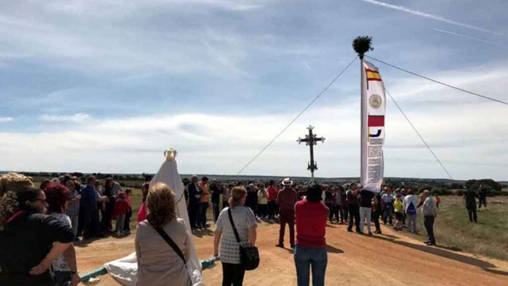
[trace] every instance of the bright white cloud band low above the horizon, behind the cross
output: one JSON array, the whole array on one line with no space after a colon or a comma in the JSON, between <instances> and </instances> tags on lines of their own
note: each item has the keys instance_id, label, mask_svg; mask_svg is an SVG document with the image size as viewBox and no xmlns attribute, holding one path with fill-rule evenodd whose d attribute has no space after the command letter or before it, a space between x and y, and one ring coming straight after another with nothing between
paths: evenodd
<instances>
[{"instance_id":1,"label":"bright white cloud band low above the horizon, behind the cross","mask_svg":"<svg viewBox=\"0 0 508 286\"><path fill-rule=\"evenodd\" d=\"M481 106L480 106L481 105ZM471 119L488 103L452 110L409 111L408 116L454 178L503 178L498 164L508 161L504 149L505 108L491 105L489 114ZM326 141L315 148L317 176L358 176L359 102L314 106L244 171L250 175L308 175L308 148L298 145L309 124ZM182 174L236 174L295 116L220 116L200 113L153 115L85 122L73 131L0 133L0 169L81 170L114 173L155 172L162 152L179 151ZM414 131L389 108L386 127L386 176L441 177L440 166ZM51 142L51 144L48 144ZM37 152L30 152L30 150ZM50 160L50 158L66 160ZM425 175L423 175L425 174Z\"/></svg>"}]
</instances>

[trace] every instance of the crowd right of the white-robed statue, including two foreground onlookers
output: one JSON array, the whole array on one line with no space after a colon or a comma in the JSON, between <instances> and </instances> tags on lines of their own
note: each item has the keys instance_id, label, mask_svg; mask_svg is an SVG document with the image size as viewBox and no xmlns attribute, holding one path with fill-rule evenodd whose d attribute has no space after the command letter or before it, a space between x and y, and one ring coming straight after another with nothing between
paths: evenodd
<instances>
[{"instance_id":1,"label":"crowd right of the white-robed statue, including two foreground onlookers","mask_svg":"<svg viewBox=\"0 0 508 286\"><path fill-rule=\"evenodd\" d=\"M237 182L219 184L212 181L206 187L206 177L199 180L193 176L187 185L188 211L193 229L208 227L194 224L203 215L199 203L203 193L211 193L216 225L214 255L223 263L223 285L241 285L245 270L241 268L232 223L228 220L228 211L233 209L235 226L241 230L240 245L254 245L255 227L259 219L278 220L279 237L276 247L284 247L286 225L289 228L290 247L295 249L295 267L298 285L308 285L309 269L312 268L313 285L324 285L326 271L325 226L327 221L346 223L347 231L355 231L372 236L381 234L380 220L393 226L395 231L407 228L417 233L417 210L421 209L424 225L428 234L427 245L436 244L433 225L440 203L437 194L422 190L417 195L412 188L402 189L383 186L382 191L374 193L363 189L356 183L330 186L327 184L302 184L293 186L289 178L264 183ZM213 187L212 187L213 186ZM223 198L223 210L218 211L218 203ZM234 200L235 205L228 202ZM231 208L228 208L230 206ZM206 206L205 206L206 208ZM395 217L395 222L394 222ZM206 219L206 218L201 218ZM202 221L201 220L201 221ZM407 220L407 225L406 225ZM237 224L236 221L242 222ZM375 231L371 231L371 222ZM296 226L296 235L295 235ZM220 246L220 248L219 248ZM220 250L219 250L220 249Z\"/></svg>"}]
</instances>

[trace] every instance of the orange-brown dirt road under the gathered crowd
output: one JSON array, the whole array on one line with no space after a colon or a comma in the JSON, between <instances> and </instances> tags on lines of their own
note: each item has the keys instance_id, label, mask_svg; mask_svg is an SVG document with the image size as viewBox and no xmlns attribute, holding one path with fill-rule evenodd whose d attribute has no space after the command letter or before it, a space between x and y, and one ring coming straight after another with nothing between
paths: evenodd
<instances>
[{"instance_id":1,"label":"orange-brown dirt road under the gathered crowd","mask_svg":"<svg viewBox=\"0 0 508 286\"><path fill-rule=\"evenodd\" d=\"M507 262L429 247L388 228L374 237L347 233L340 224L329 224L326 231L327 285L508 285ZM293 251L275 247L277 237L277 224L260 223L257 246L261 265L246 273L244 285L296 285ZM197 233L195 243L200 259L213 254L211 231ZM289 245L288 237L285 244ZM134 235L80 243L76 248L79 270L86 272L133 252ZM220 285L220 263L204 270L203 275L207 285ZM98 285L119 285L109 275L100 278Z\"/></svg>"}]
</instances>

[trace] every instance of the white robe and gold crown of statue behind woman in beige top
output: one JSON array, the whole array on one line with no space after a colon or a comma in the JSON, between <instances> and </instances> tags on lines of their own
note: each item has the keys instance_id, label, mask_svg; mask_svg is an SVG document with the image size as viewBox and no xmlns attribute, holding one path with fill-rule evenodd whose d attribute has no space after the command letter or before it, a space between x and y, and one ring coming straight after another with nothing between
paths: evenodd
<instances>
[{"instance_id":1,"label":"white robe and gold crown of statue behind woman in beige top","mask_svg":"<svg viewBox=\"0 0 508 286\"><path fill-rule=\"evenodd\" d=\"M166 156L166 160L158 170L157 174L153 176L153 179L150 181L150 185L161 182L167 184L173 191L175 191L176 215L185 220L187 230L190 233L190 222L187 213L187 205L185 203L183 183L180 179L180 175L178 174L178 169L175 161L176 151L174 149L168 149L166 152L164 152L164 155ZM204 286L205 283L203 282L201 275L201 264L198 260L198 255L196 253L196 247L194 246L192 234L190 243L190 249L192 249L190 257L192 259L187 261L187 271L192 277L194 286ZM108 270L108 273L122 285L136 286L136 274L138 271L136 252L131 253L122 259L106 263L104 267Z\"/></svg>"}]
</instances>

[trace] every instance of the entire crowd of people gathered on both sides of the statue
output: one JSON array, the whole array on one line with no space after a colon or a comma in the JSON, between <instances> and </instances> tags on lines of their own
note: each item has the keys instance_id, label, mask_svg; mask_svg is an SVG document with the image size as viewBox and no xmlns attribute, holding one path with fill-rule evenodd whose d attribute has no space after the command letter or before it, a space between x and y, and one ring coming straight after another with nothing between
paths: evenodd
<instances>
[{"instance_id":1,"label":"entire crowd of people gathered on both sides of the statue","mask_svg":"<svg viewBox=\"0 0 508 286\"><path fill-rule=\"evenodd\" d=\"M354 227L357 233L368 236L382 233L380 221L395 231L406 228L418 233L417 210L421 208L428 235L425 243L436 244L433 225L441 199L429 190L421 190L418 195L412 188L383 186L382 191L374 193L356 183L295 186L290 178L266 184L220 183L192 176L188 182L184 180L191 227L187 230L176 215L175 193L163 183L150 185L150 179L146 177L142 186L143 200L137 217L138 285L164 285L168 279L182 285L191 283L184 268L173 266L185 263L191 231L210 226L206 217L209 202L215 223L213 254L223 265L223 285L227 286L242 284L245 269L238 247L255 246L260 219L278 220L276 247L284 247L288 225L298 285L309 284L310 269L313 285L324 285L327 221L346 224L348 232L353 232ZM130 189L123 190L112 177L106 178L102 188L93 176L81 185L78 178L70 175L45 180L40 188L35 188L29 177L3 175L0 285L76 285L79 276L73 241L80 236L88 239L129 234L131 195ZM478 192L465 192L471 221L477 221L476 198L479 207L486 207L486 195L486 188L482 187ZM172 243L164 234L170 234ZM171 248L163 246L166 242Z\"/></svg>"}]
</instances>

